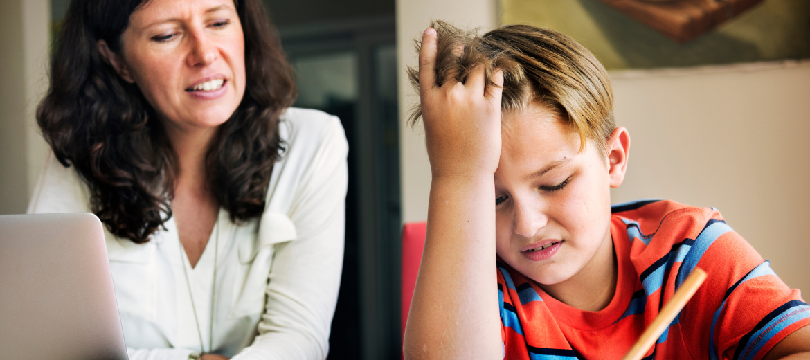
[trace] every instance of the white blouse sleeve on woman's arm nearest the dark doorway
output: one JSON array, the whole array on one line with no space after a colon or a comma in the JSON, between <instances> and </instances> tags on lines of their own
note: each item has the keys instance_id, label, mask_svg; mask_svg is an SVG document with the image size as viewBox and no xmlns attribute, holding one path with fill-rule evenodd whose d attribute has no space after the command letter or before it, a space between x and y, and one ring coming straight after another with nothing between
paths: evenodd
<instances>
[{"instance_id":1,"label":"white blouse sleeve on woman's arm nearest the dark doorway","mask_svg":"<svg viewBox=\"0 0 810 360\"><path fill-rule=\"evenodd\" d=\"M347 152L333 117L292 202L297 238L275 245L259 335L234 360L326 358L343 267Z\"/></svg>"}]
</instances>

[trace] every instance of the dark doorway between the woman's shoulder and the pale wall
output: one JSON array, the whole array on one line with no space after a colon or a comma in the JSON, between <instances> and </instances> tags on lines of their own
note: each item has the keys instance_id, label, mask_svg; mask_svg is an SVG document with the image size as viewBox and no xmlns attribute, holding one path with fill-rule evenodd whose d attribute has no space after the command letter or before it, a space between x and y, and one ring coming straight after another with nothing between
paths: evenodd
<instances>
[{"instance_id":1,"label":"dark doorway between the woman's shoulder and the pale wall","mask_svg":"<svg viewBox=\"0 0 810 360\"><path fill-rule=\"evenodd\" d=\"M295 106L349 143L346 251L329 358L399 359L399 109L394 2L265 0L296 68Z\"/></svg>"}]
</instances>

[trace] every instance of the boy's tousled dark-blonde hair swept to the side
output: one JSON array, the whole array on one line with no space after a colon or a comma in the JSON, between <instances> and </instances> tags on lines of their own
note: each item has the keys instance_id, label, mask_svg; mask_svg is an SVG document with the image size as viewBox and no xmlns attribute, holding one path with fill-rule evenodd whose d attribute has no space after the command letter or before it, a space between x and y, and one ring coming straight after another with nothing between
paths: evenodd
<instances>
[{"instance_id":1,"label":"boy's tousled dark-blonde hair swept to the side","mask_svg":"<svg viewBox=\"0 0 810 360\"><path fill-rule=\"evenodd\" d=\"M580 150L586 139L606 150L616 128L613 91L608 72L588 49L560 32L529 25L506 25L484 36L442 21L431 27L438 36L436 86L464 82L478 65L484 65L487 85L494 86L492 74L501 69L502 111L543 105L579 133ZM417 40L417 52L419 46ZM419 92L419 70L408 68L408 76ZM421 114L416 105L408 122L412 125Z\"/></svg>"}]
</instances>

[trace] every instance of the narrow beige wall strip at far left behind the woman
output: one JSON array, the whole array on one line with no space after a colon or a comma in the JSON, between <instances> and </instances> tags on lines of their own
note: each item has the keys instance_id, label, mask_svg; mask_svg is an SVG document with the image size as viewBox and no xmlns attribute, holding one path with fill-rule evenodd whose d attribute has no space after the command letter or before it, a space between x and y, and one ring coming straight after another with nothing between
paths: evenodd
<instances>
[{"instance_id":1,"label":"narrow beige wall strip at far left behind the woman","mask_svg":"<svg viewBox=\"0 0 810 360\"><path fill-rule=\"evenodd\" d=\"M47 152L34 120L47 88L49 0L0 2L0 214L25 212Z\"/></svg>"}]
</instances>

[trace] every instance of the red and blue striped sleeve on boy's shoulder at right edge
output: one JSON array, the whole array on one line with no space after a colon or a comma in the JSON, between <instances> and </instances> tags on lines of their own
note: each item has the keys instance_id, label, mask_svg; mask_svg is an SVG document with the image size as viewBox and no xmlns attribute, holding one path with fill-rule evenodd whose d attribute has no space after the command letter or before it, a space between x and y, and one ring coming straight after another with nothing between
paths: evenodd
<instances>
[{"instance_id":1,"label":"red and blue striped sleeve on boy's shoulder at right edge","mask_svg":"<svg viewBox=\"0 0 810 360\"><path fill-rule=\"evenodd\" d=\"M787 287L716 211L682 266L691 270L694 264L708 276L682 313L684 329L705 329L684 331L693 356L708 350L713 360L758 360L785 336L810 325L810 306L799 290Z\"/></svg>"}]
</instances>

